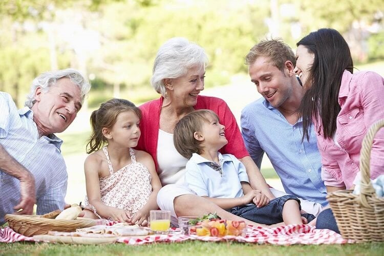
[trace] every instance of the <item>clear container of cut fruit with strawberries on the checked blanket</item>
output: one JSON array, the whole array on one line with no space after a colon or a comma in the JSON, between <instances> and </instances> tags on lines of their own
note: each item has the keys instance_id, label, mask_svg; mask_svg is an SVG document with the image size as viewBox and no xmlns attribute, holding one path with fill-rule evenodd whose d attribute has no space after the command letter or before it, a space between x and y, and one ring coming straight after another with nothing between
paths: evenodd
<instances>
[{"instance_id":1,"label":"clear container of cut fruit with strawberries on the checked blanket","mask_svg":"<svg viewBox=\"0 0 384 256\"><path fill-rule=\"evenodd\" d=\"M245 236L247 225L244 221L222 220L216 213L189 221L189 234L208 237Z\"/></svg>"}]
</instances>

